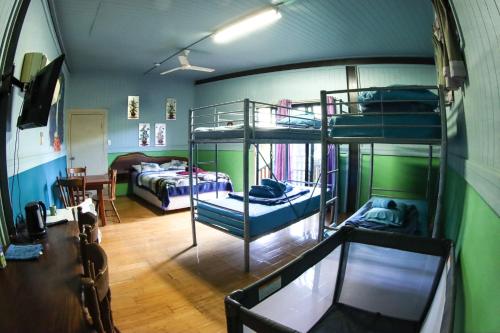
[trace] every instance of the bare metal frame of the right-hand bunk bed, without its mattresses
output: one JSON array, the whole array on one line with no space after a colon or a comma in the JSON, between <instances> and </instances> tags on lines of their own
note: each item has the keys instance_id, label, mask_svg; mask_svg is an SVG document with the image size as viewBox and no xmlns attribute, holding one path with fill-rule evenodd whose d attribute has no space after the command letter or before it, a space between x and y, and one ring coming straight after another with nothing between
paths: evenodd
<instances>
[{"instance_id":1,"label":"bare metal frame of the right-hand bunk bed, without its mattresses","mask_svg":"<svg viewBox=\"0 0 500 333\"><path fill-rule=\"evenodd\" d=\"M368 116L370 115L380 115L382 116L382 124L366 124L362 125L362 127L368 127L368 128L382 128L383 135L380 137L335 137L330 135L329 131L331 131L331 126L329 126L329 117L328 115L328 104L327 103L327 95L331 94L348 94L348 93L359 93L363 91L384 91L384 90L403 90L403 89L428 89L428 90L434 90L438 92L438 97L439 97L439 114L440 114L440 119L441 123L440 125L436 125L437 127L441 128L441 138L393 138L393 137L385 137L384 129L385 127L407 127L407 128L429 128L429 127L434 127L433 125L414 125L414 124L407 124L407 125L385 125L384 123L384 116L385 115L399 115L399 114L416 114L416 115L422 115L421 112L383 112L383 103L390 103L391 101L389 100L380 100L381 104L381 112L370 112ZM416 100L397 100L397 101L392 101L392 102L416 102ZM358 101L348 101L348 102L334 102L335 105L353 105L353 104L359 104L360 102ZM322 218L320 218L320 225L319 229L323 229L323 232L320 233L321 236L324 234L325 229L336 229L336 224L334 223L333 228L329 228L328 226L324 225L324 219L326 215L326 209L331 206L333 203L328 201L326 198L326 187L323 186L323 184L326 184L326 165L327 165L327 157L326 157L326 152L328 151L328 146L332 144L370 144L370 177L369 177L369 197L372 196L373 191L386 191L386 192L405 192L405 191L400 191L397 189L384 189L384 188L374 188L373 187L373 168L374 168L374 144L375 143L382 143L382 144L418 144L418 145L429 145L429 154L428 154L428 166L427 166L427 179L426 179L426 199L428 203L431 203L431 191L430 191L430 184L431 184L431 178L432 178L432 159L433 159L433 154L432 154L432 147L433 146L440 146L440 164L439 164L439 185L438 185L438 190L437 190L437 197L436 197L436 206L435 206L435 211L434 211L434 221L433 221L433 229L432 229L432 237L433 238L439 238L442 235L442 226L441 226L441 215L442 215L442 205L443 205L443 196L444 196L444 189L445 189L445 181L446 181L446 166L447 166L447 123L446 123L446 110L445 110L445 99L444 99L444 87L443 86L391 86L391 87L370 87L370 88L361 88L361 89L345 89L345 90L332 90L332 91L321 91L321 113L322 113L322 124L321 124L321 149L322 149L322 160L321 160L321 199L320 199L320 214ZM427 112L426 114L431 114L430 112ZM359 116L360 113L350 113L350 114L343 114L341 116ZM366 115L366 114L365 114ZM338 127L345 127L345 128L353 128L353 127L359 127L360 125L334 125ZM337 149L339 151L339 149ZM362 154L360 154L361 158ZM361 173L361 163L359 163L360 167L358 170L358 173ZM338 183L338 173L337 173L337 183ZM359 188L357 189L358 191L358 200L359 200ZM382 195L383 196L383 195ZM338 210L338 205L336 206L336 210ZM430 205L429 205L430 206Z\"/></svg>"}]
</instances>

